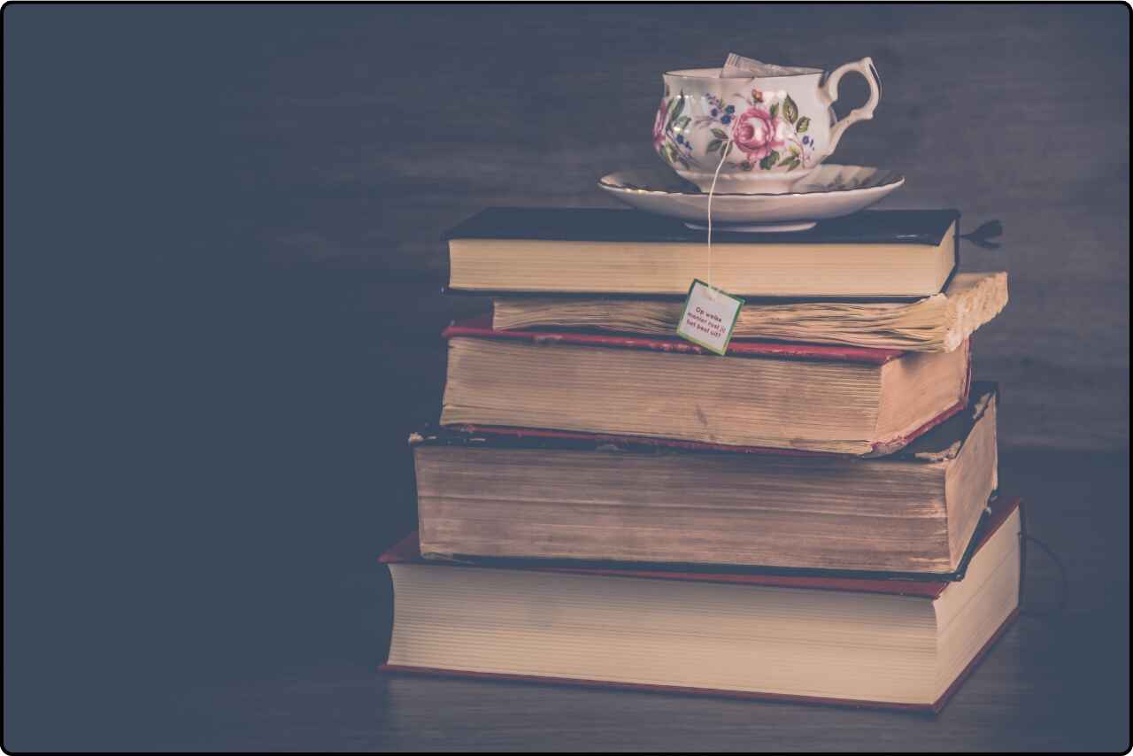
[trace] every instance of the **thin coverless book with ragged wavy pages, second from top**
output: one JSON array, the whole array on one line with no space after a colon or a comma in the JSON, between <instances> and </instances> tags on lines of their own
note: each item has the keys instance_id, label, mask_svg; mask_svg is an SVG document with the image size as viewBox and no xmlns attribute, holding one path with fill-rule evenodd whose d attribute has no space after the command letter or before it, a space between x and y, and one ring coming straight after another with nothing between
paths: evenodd
<instances>
[{"instance_id":1,"label":"thin coverless book with ragged wavy pages, second from top","mask_svg":"<svg viewBox=\"0 0 1133 756\"><path fill-rule=\"evenodd\" d=\"M1007 274L957 273L944 291L915 301L749 300L734 339L952 351L1007 304ZM679 298L504 296L492 300L492 328L596 329L672 335Z\"/></svg>"}]
</instances>

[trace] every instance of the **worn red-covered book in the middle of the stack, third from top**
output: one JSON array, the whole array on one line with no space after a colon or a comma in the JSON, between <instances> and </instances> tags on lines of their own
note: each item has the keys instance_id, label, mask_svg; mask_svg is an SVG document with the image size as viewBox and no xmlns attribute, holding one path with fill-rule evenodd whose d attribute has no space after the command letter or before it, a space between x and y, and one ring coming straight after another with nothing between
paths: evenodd
<instances>
[{"instance_id":1,"label":"worn red-covered book in the middle of the stack, third from top","mask_svg":"<svg viewBox=\"0 0 1133 756\"><path fill-rule=\"evenodd\" d=\"M892 453L968 400L970 354L496 331L454 323L442 425L551 428L727 447Z\"/></svg>"}]
</instances>

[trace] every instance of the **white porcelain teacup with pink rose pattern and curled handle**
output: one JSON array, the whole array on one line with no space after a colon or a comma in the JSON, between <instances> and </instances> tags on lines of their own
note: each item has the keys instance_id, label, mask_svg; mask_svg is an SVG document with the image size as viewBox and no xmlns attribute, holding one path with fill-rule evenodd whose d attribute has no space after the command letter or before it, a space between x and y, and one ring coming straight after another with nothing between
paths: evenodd
<instances>
[{"instance_id":1,"label":"white porcelain teacup with pink rose pattern and curled handle","mask_svg":"<svg viewBox=\"0 0 1133 756\"><path fill-rule=\"evenodd\" d=\"M654 150L702 192L717 167L716 192L790 192L834 152L850 126L874 117L881 84L869 58L835 68L825 80L820 68L783 70L753 78L721 78L718 68L665 74ZM851 71L866 77L869 100L836 120L830 105Z\"/></svg>"}]
</instances>

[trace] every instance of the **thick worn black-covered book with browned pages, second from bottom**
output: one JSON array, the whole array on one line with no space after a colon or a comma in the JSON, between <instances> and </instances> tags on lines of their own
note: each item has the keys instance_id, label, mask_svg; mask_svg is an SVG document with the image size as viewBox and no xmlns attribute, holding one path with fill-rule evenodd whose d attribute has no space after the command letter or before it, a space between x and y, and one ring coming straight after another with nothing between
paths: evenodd
<instances>
[{"instance_id":1,"label":"thick worn black-covered book with browned pages, second from bottom","mask_svg":"<svg viewBox=\"0 0 1133 756\"><path fill-rule=\"evenodd\" d=\"M414 434L421 553L955 571L998 485L996 387L879 459Z\"/></svg>"}]
</instances>

